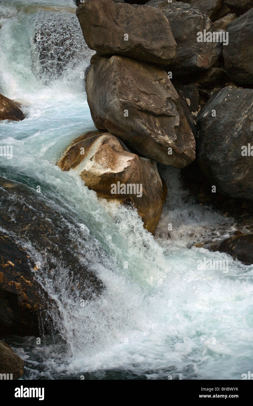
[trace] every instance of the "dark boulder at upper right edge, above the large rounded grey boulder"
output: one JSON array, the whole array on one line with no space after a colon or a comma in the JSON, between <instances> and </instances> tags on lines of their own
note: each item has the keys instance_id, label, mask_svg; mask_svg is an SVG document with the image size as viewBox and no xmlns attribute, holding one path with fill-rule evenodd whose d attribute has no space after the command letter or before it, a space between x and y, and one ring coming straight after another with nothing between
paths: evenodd
<instances>
[{"instance_id":1,"label":"dark boulder at upper right edge, above the large rounded grey boulder","mask_svg":"<svg viewBox=\"0 0 253 406\"><path fill-rule=\"evenodd\" d=\"M253 9L227 26L229 43L223 47L227 76L236 83L253 84Z\"/></svg>"}]
</instances>

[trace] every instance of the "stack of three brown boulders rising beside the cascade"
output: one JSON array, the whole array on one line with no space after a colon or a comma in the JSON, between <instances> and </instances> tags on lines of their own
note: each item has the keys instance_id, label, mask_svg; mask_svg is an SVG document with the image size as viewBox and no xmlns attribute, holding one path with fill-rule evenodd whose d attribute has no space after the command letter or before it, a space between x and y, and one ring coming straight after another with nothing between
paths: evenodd
<instances>
[{"instance_id":1,"label":"stack of three brown boulders rising beside the cascade","mask_svg":"<svg viewBox=\"0 0 253 406\"><path fill-rule=\"evenodd\" d=\"M154 233L167 194L157 162L182 168L195 159L195 138L167 73L177 43L156 7L86 0L76 15L87 45L97 52L86 93L100 132L75 140L58 165L75 167L99 197L132 203ZM216 48L215 56L207 50L207 65ZM113 194L118 182L122 191ZM142 196L125 193L126 182L141 185Z\"/></svg>"}]
</instances>

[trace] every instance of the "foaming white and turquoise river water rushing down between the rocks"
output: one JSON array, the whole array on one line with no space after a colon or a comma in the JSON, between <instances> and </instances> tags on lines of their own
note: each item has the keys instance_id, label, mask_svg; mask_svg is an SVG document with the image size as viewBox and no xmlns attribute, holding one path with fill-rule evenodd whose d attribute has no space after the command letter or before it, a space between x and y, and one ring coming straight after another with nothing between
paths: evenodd
<instances>
[{"instance_id":1,"label":"foaming white and turquoise river water rushing down between the rocks","mask_svg":"<svg viewBox=\"0 0 253 406\"><path fill-rule=\"evenodd\" d=\"M154 238L133 209L97 199L75 171L56 166L71 140L95 129L82 75L93 52L75 10L72 0L0 1L0 93L26 116L0 123L0 144L13 145L13 159L0 158L0 175L41 185L38 199L68 213L79 257L105 286L81 307L60 259L57 286L43 267L35 272L57 304L58 333L41 345L10 339L25 361L23 378L241 379L253 367L253 266L194 246L229 237L235 220L186 203L180 171L167 167ZM39 255L32 241L30 253ZM204 257L227 260L228 269L201 270Z\"/></svg>"}]
</instances>

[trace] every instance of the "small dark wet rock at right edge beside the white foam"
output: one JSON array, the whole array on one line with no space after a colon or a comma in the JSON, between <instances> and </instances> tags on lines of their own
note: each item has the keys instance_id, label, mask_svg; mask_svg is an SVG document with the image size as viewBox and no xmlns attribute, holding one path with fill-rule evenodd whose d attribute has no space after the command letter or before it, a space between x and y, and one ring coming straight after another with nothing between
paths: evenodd
<instances>
[{"instance_id":1,"label":"small dark wet rock at right edge beside the white foam","mask_svg":"<svg viewBox=\"0 0 253 406\"><path fill-rule=\"evenodd\" d=\"M221 251L231 255L246 265L253 263L253 235L236 235L223 241L219 246L212 248L212 251Z\"/></svg>"}]
</instances>

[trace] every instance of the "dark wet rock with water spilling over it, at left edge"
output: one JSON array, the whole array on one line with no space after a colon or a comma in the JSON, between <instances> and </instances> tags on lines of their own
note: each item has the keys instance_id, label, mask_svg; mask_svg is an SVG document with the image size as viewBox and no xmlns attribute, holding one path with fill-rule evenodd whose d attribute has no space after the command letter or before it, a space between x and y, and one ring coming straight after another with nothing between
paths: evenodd
<instances>
[{"instance_id":1,"label":"dark wet rock with water spilling over it, at left edge","mask_svg":"<svg viewBox=\"0 0 253 406\"><path fill-rule=\"evenodd\" d=\"M0 227L5 230L0 233L0 331L38 337L43 328L50 331L47 309L53 304L38 282L42 270L43 282L54 283L62 268L69 269L73 291L82 289L84 299L99 294L102 283L79 261L78 234L68 225L67 213L56 212L24 184L0 178L0 190Z\"/></svg>"}]
</instances>

